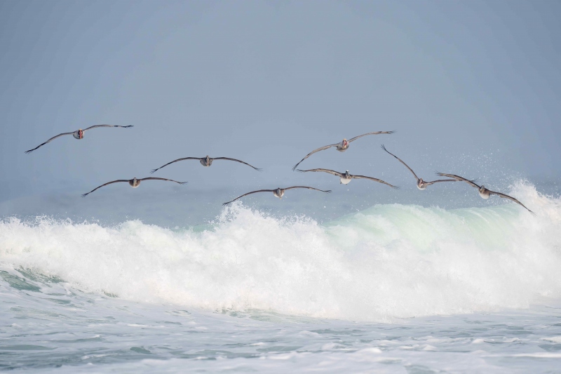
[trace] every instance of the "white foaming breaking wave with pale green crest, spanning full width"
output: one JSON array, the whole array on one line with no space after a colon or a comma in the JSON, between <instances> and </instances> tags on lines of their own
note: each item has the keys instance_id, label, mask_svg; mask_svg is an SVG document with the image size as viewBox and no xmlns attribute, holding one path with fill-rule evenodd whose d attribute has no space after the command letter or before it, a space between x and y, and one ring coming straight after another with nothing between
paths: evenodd
<instances>
[{"instance_id":1,"label":"white foaming breaking wave with pale green crest, spanning full width","mask_svg":"<svg viewBox=\"0 0 561 374\"><path fill-rule=\"evenodd\" d=\"M327 225L234 204L212 229L0 221L0 263L141 302L392 321L527 307L561 295L561 204L374 206Z\"/></svg>"}]
</instances>

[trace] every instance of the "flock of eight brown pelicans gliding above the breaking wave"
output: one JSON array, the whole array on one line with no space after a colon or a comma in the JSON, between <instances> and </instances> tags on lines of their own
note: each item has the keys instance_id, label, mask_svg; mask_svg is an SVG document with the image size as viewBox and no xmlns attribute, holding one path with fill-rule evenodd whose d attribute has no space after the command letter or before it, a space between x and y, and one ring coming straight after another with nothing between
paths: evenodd
<instances>
[{"instance_id":1,"label":"flock of eight brown pelicans gliding above the breaking wave","mask_svg":"<svg viewBox=\"0 0 561 374\"><path fill-rule=\"evenodd\" d=\"M130 126L95 125L95 126L90 126L88 128L84 128L83 130L80 128L80 129L78 129L76 131L72 131L70 133L60 133L56 136L53 136L53 138L50 138L46 142L41 143L40 145L38 145L37 147L35 147L33 149L29 149L25 153L29 154L29 153L33 152L34 150L38 149L39 147L42 147L43 145L46 145L48 142L51 142L52 140L60 138L64 135L72 135L76 139L83 139L84 133L86 131L91 130L93 128L102 128L102 127L130 128L130 127L133 127L133 126L132 125L130 125ZM392 185L391 183L388 183L384 180L374 178L374 177L369 177L369 176L366 176L366 175L353 175L353 174L349 173L348 170L345 171L344 173L341 173L339 171L333 171L333 170L326 169L326 168L313 168L313 169L308 169L308 170L297 169L297 167L299 166L300 163L302 163L302 161L308 159L309 156L311 156L312 154L315 154L317 152L323 151L325 149L329 149L331 147L335 147L335 149L337 149L337 151L339 151L339 152L345 152L346 149L349 149L349 145L351 144L351 142L353 142L353 141L355 141L359 138L363 138L364 136L367 136L367 135L381 135L381 134L389 135L389 134L393 134L395 132L396 131L374 131L374 132L371 132L371 133L365 133L363 135L358 135L358 136L356 136L354 138L351 138L349 140L343 139L341 142L337 142L337 143L330 144L330 145L325 145L324 147L314 149L309 154L306 154L306 156L304 156L304 158L302 160L300 160L294 167L292 167L292 171L299 171L299 172L302 172L302 173L328 173L328 174L332 174L332 175L335 175L335 176L339 177L339 181L341 182L342 185L348 185L349 182L351 182L351 180L353 180L353 179L365 179L365 180L372 180L374 182L378 182L378 183L381 183L381 184L384 184L384 185L388 185L389 187L392 187L393 189L399 189L399 187L397 187L395 185ZM496 195L496 196L499 196L503 199L509 199L509 200L511 200L515 203L518 203L520 206L522 206L527 211L529 211L529 213L532 213L532 215L535 215L535 213L533 211L530 211L529 208L527 208L523 203L521 203L520 201L515 199L513 196L508 196L507 194L503 194L501 192L491 191L490 189L487 189L485 186L482 186L482 185L480 186L480 185L476 184L474 180L468 180L468 179L463 178L459 175L447 174L447 173L437 173L441 177L445 177L445 178L448 178L448 179L425 181L425 180L423 180L423 178L419 178L417 176L417 174L413 171L413 169L410 168L410 166L407 165L407 163L405 163L402 159L400 159L395 154L389 152L388 149L386 149L386 147L384 145L381 145L381 149L384 149L384 152L393 156L400 163L403 163L403 166L405 166L405 168L407 168L407 170L409 170L412 173L413 177L417 181L417 188L420 189L420 190L424 190L424 189L426 189L426 187L428 187L430 185L434 185L435 183L440 183L440 182L466 182L468 185L471 185L471 187L477 188L480 196L483 199L489 199L489 196ZM160 170L161 168L165 168L165 166L168 166L168 165L170 165L172 163L175 163L175 162L185 161L185 160L197 160L197 161L199 161L199 163L201 163L202 166L205 166L207 168L212 165L212 162L217 161L217 160L233 161L233 162L237 162L237 163L243 163L244 165L249 166L250 168L253 168L255 171L262 171L261 168L256 168L255 166L252 166L250 163L247 163L247 162L239 160L239 159L232 159L230 157L210 157L210 156L207 155L207 156L204 156L204 157L184 157L182 159L176 159L176 160L170 161L168 163L165 163L163 166L160 166L159 168L152 169L150 171L150 173L155 173L156 171ZM152 178L152 177L150 177L150 178L140 178L140 179L133 178L133 179L130 179L130 180L120 179L120 180L112 180L111 182L104 183L103 185L95 187L95 189L92 189L90 192L87 192L86 194L82 194L81 196L82 197L88 196L88 194L91 194L92 192L96 191L97 189L100 189L101 187L111 185L113 183L119 183L119 182L127 182L130 185L130 187L137 188L140 185L140 182L142 182L143 180L163 180L163 181L167 181L167 182L178 183L180 185L184 185L185 183L187 183L187 182L177 182L177 180L171 180L171 179L166 179L166 178ZM257 194L259 192L273 192L274 196L278 197L279 199L282 199L282 197L285 194L285 191L288 191L289 189L312 189L312 190L315 190L315 191L325 192L325 193L330 193L331 192L331 190L324 190L324 189L319 189L319 188L316 188L316 187L309 187L309 186L292 186L292 187L276 188L276 189L257 189L255 191L251 191L251 192L248 192L246 194L240 195L240 196L236 197L236 199L233 199L231 201L227 201L226 203L223 203L222 205L228 205L229 203L233 203L234 201L237 201L238 199L241 199L244 196L248 196L250 194Z\"/></svg>"}]
</instances>

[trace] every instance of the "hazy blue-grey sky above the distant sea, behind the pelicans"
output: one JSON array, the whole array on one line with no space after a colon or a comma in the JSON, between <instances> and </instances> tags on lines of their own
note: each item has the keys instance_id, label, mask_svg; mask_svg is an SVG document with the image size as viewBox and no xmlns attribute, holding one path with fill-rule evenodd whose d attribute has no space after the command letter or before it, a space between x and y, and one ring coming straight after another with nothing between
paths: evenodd
<instances>
[{"instance_id":1,"label":"hazy blue-grey sky above the distant sea, behind the pelicans","mask_svg":"<svg viewBox=\"0 0 561 374\"><path fill-rule=\"evenodd\" d=\"M413 182L384 142L422 175L557 180L560 18L559 1L2 0L1 199L87 192L206 154L266 171L158 175L283 186L312 149L385 130L398 133L302 167ZM99 123L135 127L24 154Z\"/></svg>"}]
</instances>

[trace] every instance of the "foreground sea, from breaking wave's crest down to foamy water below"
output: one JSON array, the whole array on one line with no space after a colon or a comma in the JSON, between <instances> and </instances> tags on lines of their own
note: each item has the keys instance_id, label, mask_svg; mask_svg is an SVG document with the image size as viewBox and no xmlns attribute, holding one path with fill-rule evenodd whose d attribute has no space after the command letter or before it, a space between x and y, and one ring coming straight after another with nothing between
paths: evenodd
<instances>
[{"instance_id":1,"label":"foreground sea, from breaking wave's crest down to foamy water below","mask_svg":"<svg viewBox=\"0 0 561 374\"><path fill-rule=\"evenodd\" d=\"M560 373L561 199L511 193L537 216L479 198L244 202L199 225L5 214L0 368Z\"/></svg>"}]
</instances>

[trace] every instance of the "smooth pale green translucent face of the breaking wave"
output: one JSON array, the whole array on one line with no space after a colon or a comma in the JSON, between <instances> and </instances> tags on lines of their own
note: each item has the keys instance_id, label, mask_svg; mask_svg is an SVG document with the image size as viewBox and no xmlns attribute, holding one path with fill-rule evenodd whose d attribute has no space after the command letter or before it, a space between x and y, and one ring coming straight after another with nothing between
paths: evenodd
<instances>
[{"instance_id":1,"label":"smooth pale green translucent face of the breaking wave","mask_svg":"<svg viewBox=\"0 0 561 374\"><path fill-rule=\"evenodd\" d=\"M513 204L450 211L391 204L347 215L326 227L334 238L344 236L341 246L353 246L357 240L368 238L381 246L406 241L417 251L436 250L445 241L471 243L491 251L508 248L520 213Z\"/></svg>"}]
</instances>

